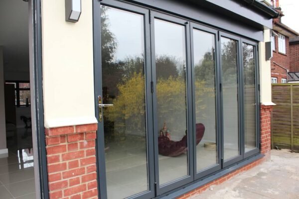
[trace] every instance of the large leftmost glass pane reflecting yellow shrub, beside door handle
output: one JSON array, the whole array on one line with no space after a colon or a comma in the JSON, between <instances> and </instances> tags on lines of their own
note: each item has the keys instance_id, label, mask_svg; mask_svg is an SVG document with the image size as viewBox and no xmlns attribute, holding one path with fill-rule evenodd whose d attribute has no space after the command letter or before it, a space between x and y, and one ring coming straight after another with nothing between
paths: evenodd
<instances>
[{"instance_id":1,"label":"large leftmost glass pane reflecting yellow shrub, beside door handle","mask_svg":"<svg viewBox=\"0 0 299 199\"><path fill-rule=\"evenodd\" d=\"M101 6L108 199L148 190L144 16Z\"/></svg>"}]
</instances>

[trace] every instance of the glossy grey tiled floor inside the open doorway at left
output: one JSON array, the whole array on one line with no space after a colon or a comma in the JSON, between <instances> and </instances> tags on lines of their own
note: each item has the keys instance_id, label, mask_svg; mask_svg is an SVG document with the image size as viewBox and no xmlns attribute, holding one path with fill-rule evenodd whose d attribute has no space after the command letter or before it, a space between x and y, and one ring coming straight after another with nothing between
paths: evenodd
<instances>
[{"instance_id":1,"label":"glossy grey tiled floor inside the open doorway at left","mask_svg":"<svg viewBox=\"0 0 299 199\"><path fill-rule=\"evenodd\" d=\"M35 199L30 134L28 129L7 134L8 157L0 157L0 199Z\"/></svg>"}]
</instances>

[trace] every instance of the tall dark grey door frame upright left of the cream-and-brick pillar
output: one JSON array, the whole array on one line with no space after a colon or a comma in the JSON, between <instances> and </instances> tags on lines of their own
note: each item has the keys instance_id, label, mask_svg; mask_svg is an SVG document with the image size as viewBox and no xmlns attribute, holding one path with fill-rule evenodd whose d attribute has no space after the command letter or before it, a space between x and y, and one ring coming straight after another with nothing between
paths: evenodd
<instances>
[{"instance_id":1,"label":"tall dark grey door frame upright left of the cream-and-brick pillar","mask_svg":"<svg viewBox=\"0 0 299 199\"><path fill-rule=\"evenodd\" d=\"M28 0L29 74L36 198L49 199L43 90L41 0Z\"/></svg>"}]
</instances>

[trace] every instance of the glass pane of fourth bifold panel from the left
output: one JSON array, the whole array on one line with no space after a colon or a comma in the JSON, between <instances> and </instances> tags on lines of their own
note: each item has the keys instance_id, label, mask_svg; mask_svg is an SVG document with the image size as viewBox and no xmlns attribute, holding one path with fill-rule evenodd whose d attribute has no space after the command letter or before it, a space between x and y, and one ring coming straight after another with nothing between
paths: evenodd
<instances>
[{"instance_id":1,"label":"glass pane of fourth bifold panel from the left","mask_svg":"<svg viewBox=\"0 0 299 199\"><path fill-rule=\"evenodd\" d=\"M239 155L238 42L221 37L224 160Z\"/></svg>"}]
</instances>

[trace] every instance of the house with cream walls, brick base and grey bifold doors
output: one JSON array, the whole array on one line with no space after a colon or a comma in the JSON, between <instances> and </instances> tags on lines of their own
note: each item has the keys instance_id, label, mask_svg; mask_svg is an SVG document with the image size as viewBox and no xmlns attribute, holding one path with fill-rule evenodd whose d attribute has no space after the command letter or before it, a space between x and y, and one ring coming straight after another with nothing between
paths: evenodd
<instances>
[{"instance_id":1,"label":"house with cream walls, brick base and grey bifold doors","mask_svg":"<svg viewBox=\"0 0 299 199\"><path fill-rule=\"evenodd\" d=\"M269 5L1 0L0 198L187 199L269 160Z\"/></svg>"}]
</instances>

